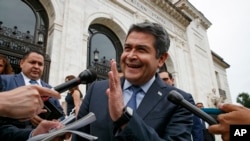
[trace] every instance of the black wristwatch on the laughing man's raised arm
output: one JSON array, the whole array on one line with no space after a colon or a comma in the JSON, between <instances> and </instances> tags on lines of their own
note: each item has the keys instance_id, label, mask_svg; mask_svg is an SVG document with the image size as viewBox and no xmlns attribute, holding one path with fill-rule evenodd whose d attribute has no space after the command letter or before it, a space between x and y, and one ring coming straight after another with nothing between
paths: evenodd
<instances>
[{"instance_id":1,"label":"black wristwatch on the laughing man's raised arm","mask_svg":"<svg viewBox=\"0 0 250 141\"><path fill-rule=\"evenodd\" d=\"M129 122L131 117L133 116L133 109L130 107L124 107L122 116L114 122L114 130L118 130L122 125Z\"/></svg>"}]
</instances>

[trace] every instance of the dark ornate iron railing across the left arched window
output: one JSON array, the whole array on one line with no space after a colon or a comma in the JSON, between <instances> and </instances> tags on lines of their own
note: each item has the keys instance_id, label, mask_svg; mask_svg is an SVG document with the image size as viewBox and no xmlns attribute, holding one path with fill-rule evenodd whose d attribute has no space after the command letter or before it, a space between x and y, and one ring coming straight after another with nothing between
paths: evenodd
<instances>
[{"instance_id":1,"label":"dark ornate iron railing across the left arched window","mask_svg":"<svg viewBox=\"0 0 250 141\"><path fill-rule=\"evenodd\" d=\"M8 28L2 25L0 21L0 54L6 55L12 65L14 72L19 73L21 68L19 66L20 59L23 54L28 51L39 51L44 54L45 66L42 79L48 82L50 57L46 54L46 45L44 42L37 42L34 36L27 31L23 33L18 31L18 28Z\"/></svg>"}]
</instances>

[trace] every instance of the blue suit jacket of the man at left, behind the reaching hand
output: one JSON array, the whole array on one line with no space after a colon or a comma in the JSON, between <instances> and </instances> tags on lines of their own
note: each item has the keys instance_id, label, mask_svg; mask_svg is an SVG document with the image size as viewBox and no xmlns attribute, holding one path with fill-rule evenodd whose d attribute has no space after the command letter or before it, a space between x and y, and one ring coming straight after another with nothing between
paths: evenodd
<instances>
[{"instance_id":1,"label":"blue suit jacket of the man at left, behind the reaching hand","mask_svg":"<svg viewBox=\"0 0 250 141\"><path fill-rule=\"evenodd\" d=\"M24 86L25 82L21 73L14 75L0 75L0 91L8 91L20 86ZM41 81L43 87L51 88L50 85ZM63 112L59 101L55 98L49 98L49 101L53 103L59 110ZM0 121L0 140L8 141L26 141L30 132L33 130L29 121L18 122L16 120L1 118ZM8 122L4 122L8 121ZM30 128L26 128L30 125Z\"/></svg>"}]
</instances>

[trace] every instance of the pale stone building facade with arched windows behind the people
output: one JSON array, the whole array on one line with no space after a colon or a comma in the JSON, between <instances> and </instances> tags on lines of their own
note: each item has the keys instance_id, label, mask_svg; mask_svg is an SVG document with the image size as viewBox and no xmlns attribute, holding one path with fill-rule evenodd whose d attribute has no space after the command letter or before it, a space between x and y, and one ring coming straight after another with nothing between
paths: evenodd
<instances>
[{"instance_id":1,"label":"pale stone building facade with arched windows behind the people","mask_svg":"<svg viewBox=\"0 0 250 141\"><path fill-rule=\"evenodd\" d=\"M17 1L3 0L0 9ZM64 82L66 75L78 75L89 67L101 66L98 78L105 79L107 61L111 58L119 61L130 25L152 21L162 24L169 32L171 45L165 69L173 74L175 86L208 107L214 107L220 100L231 102L226 73L229 65L209 46L207 29L211 23L187 0L24 0L19 3L35 15L31 43L39 43L42 31L44 38L39 46L47 56L44 79L52 86ZM6 11L0 10L1 27L5 29L12 28L4 24L11 22L3 17L10 14ZM23 21L17 21L17 26L19 22ZM37 30L37 25L43 26L43 30ZM11 44L6 45L7 39L3 38L8 35L3 34L3 29L0 53L14 62L21 53L12 51ZM24 40L22 43L22 48L17 45L18 49L32 49ZM99 58L95 58L95 51ZM85 93L86 86L81 85L81 89Z\"/></svg>"}]
</instances>

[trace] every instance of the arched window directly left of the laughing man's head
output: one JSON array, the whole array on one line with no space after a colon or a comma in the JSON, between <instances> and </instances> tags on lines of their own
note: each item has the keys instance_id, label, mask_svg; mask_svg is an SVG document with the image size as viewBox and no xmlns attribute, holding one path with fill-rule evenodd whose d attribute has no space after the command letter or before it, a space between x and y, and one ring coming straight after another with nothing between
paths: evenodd
<instances>
[{"instance_id":1,"label":"arched window directly left of the laughing man's head","mask_svg":"<svg viewBox=\"0 0 250 141\"><path fill-rule=\"evenodd\" d=\"M97 79L107 79L110 71L109 61L120 62L122 44L115 33L102 24L92 24L89 27L88 66L97 72Z\"/></svg>"}]
</instances>

